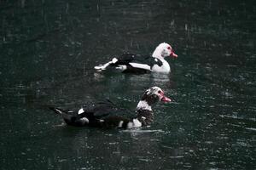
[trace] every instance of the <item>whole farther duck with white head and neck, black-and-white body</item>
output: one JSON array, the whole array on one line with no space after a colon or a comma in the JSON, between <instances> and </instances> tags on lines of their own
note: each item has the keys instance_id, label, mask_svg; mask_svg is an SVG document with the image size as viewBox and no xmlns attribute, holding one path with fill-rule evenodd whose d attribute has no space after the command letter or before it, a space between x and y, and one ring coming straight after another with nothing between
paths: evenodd
<instances>
[{"instance_id":1,"label":"whole farther duck with white head and neck, black-and-white body","mask_svg":"<svg viewBox=\"0 0 256 170\"><path fill-rule=\"evenodd\" d=\"M139 54L123 54L119 58L113 58L104 65L98 65L94 68L97 71L106 70L109 66L123 72L146 73L146 72L171 72L170 65L166 57L177 58L171 45L162 42L154 49L152 56L142 56Z\"/></svg>"}]
</instances>

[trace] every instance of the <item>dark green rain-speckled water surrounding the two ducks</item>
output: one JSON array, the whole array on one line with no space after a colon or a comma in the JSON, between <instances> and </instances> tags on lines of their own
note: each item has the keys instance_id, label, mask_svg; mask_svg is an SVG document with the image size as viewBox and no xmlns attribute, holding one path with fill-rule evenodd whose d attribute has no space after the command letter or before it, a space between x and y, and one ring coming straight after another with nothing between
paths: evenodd
<instances>
[{"instance_id":1,"label":"dark green rain-speckled water surrounding the two ducks","mask_svg":"<svg viewBox=\"0 0 256 170\"><path fill-rule=\"evenodd\" d=\"M0 2L1 169L255 169L256 4L207 1ZM172 74L93 66L169 42ZM160 86L151 127L67 127L47 105L105 98L135 109Z\"/></svg>"}]
</instances>

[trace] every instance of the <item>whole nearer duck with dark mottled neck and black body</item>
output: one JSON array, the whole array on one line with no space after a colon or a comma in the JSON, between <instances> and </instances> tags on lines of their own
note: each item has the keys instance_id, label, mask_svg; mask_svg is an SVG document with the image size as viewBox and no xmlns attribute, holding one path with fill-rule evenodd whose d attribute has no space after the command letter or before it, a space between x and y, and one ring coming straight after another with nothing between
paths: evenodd
<instances>
[{"instance_id":1,"label":"whole nearer duck with dark mottled neck and black body","mask_svg":"<svg viewBox=\"0 0 256 170\"><path fill-rule=\"evenodd\" d=\"M152 87L144 92L137 105L136 114L132 117L121 116L124 109L118 109L110 102L82 107L78 111L63 111L55 107L49 109L60 114L67 125L71 126L132 128L148 126L153 122L154 114L151 106L157 101L171 102L171 99L165 96L161 88Z\"/></svg>"}]
</instances>

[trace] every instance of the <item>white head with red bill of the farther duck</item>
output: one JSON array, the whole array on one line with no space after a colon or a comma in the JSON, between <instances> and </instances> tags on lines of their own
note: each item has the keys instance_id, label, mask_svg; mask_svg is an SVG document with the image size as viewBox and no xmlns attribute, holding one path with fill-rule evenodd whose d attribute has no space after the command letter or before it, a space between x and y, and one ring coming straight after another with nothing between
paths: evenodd
<instances>
[{"instance_id":1,"label":"white head with red bill of the farther duck","mask_svg":"<svg viewBox=\"0 0 256 170\"><path fill-rule=\"evenodd\" d=\"M155 58L165 58L165 57L172 57L177 58L177 54L174 53L172 46L166 42L160 43L154 50L152 54Z\"/></svg>"}]
</instances>

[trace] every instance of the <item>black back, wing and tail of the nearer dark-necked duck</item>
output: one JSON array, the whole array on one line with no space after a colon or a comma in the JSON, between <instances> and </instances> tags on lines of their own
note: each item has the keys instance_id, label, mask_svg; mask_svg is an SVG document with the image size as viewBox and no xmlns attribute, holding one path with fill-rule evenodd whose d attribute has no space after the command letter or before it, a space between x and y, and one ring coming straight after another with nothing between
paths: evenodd
<instances>
[{"instance_id":1,"label":"black back, wing and tail of the nearer dark-necked duck","mask_svg":"<svg viewBox=\"0 0 256 170\"><path fill-rule=\"evenodd\" d=\"M61 110L55 107L49 107L50 110L61 114L67 125L75 127L118 127L118 122L123 121L123 126L132 120L131 111L118 108L112 102L99 102L96 104L87 104L79 110ZM124 117L124 115L126 117Z\"/></svg>"}]
</instances>

